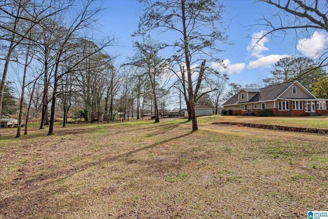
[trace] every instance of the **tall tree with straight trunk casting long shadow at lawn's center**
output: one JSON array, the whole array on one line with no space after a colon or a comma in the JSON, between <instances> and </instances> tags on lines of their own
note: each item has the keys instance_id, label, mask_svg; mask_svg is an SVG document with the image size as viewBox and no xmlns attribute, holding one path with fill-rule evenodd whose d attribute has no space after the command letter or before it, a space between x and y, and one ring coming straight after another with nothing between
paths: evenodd
<instances>
[{"instance_id":1,"label":"tall tree with straight trunk casting long shadow at lawn's center","mask_svg":"<svg viewBox=\"0 0 328 219\"><path fill-rule=\"evenodd\" d=\"M227 43L227 36L219 30L215 22L221 20L223 5L217 0L174 0L174 1L145 1L144 15L140 17L138 31L134 35L145 35L160 29L163 32L173 31L181 37L166 47L176 48L172 56L173 66L183 64L186 66L186 81L188 84L187 108L190 108L192 130L198 129L195 114L195 92L192 83L192 65L203 59L201 56L210 57L213 61L220 62L213 57L212 52L219 52L216 42ZM200 31L201 30L201 31ZM197 94L197 92L196 92ZM189 106L188 106L189 105Z\"/></svg>"}]
</instances>

